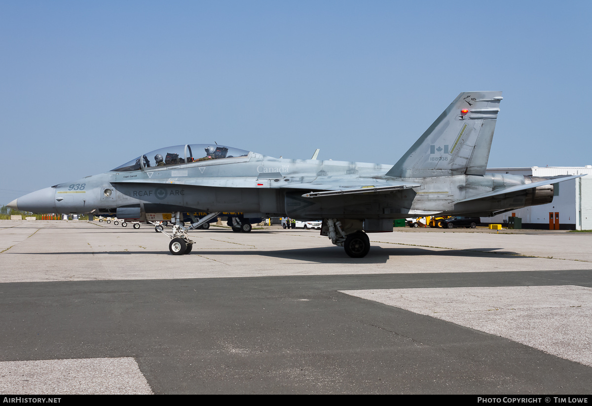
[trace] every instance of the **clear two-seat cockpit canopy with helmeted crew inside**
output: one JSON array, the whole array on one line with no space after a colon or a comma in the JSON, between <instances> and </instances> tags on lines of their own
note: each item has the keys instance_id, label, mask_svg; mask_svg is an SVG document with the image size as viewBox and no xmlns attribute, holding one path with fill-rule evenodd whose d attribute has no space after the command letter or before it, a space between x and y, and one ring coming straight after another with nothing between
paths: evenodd
<instances>
[{"instance_id":1,"label":"clear two-seat cockpit canopy with helmeted crew inside","mask_svg":"<svg viewBox=\"0 0 592 406\"><path fill-rule=\"evenodd\" d=\"M249 151L217 144L186 144L154 150L130 162L111 169L111 172L151 169L161 166L185 165L212 159L247 156Z\"/></svg>"}]
</instances>

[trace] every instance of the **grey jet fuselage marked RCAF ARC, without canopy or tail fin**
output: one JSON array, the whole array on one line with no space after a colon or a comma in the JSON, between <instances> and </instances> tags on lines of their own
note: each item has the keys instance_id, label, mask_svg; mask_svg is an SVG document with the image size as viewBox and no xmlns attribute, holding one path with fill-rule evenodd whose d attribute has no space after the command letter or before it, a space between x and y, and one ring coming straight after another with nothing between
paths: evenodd
<instances>
[{"instance_id":1,"label":"grey jet fuselage marked RCAF ARC, without canopy or tail fin","mask_svg":"<svg viewBox=\"0 0 592 406\"><path fill-rule=\"evenodd\" d=\"M364 220L417 217L430 212L485 216L552 199L551 186L548 199L538 203L533 200L532 192L529 194L530 189L526 189L506 198L455 204L472 195L531 182L527 176L491 173L405 179L421 186L343 195L338 200L303 197L306 192L323 190L320 185L327 182L366 187L400 183L401 179L384 176L389 168L389 165L372 163L275 159L250 153L249 157L87 176L23 196L18 199L18 208L34 212L99 214L127 207L139 208L142 214L239 211L252 214L250 217L288 215L299 220L327 217Z\"/></svg>"}]
</instances>

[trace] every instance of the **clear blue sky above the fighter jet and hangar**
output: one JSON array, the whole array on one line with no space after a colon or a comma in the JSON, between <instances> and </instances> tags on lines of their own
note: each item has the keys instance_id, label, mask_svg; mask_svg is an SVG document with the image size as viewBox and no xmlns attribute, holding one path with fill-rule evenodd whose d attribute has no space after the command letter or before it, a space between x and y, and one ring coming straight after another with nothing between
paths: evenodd
<instances>
[{"instance_id":1,"label":"clear blue sky above the fighter jet and hangar","mask_svg":"<svg viewBox=\"0 0 592 406\"><path fill-rule=\"evenodd\" d=\"M591 1L0 1L0 204L169 145L397 162L501 90L489 166L592 165Z\"/></svg>"}]
</instances>

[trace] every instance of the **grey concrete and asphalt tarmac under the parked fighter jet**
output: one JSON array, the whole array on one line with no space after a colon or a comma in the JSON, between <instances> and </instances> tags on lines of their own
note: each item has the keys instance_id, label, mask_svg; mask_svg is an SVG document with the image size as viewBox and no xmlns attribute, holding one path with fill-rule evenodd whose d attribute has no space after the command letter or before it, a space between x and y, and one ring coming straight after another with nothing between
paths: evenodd
<instances>
[{"instance_id":1,"label":"grey concrete and asphalt tarmac under the parked fighter jet","mask_svg":"<svg viewBox=\"0 0 592 406\"><path fill-rule=\"evenodd\" d=\"M395 228L358 260L313 230L191 235L1 221L0 392L592 392L591 233Z\"/></svg>"}]
</instances>

